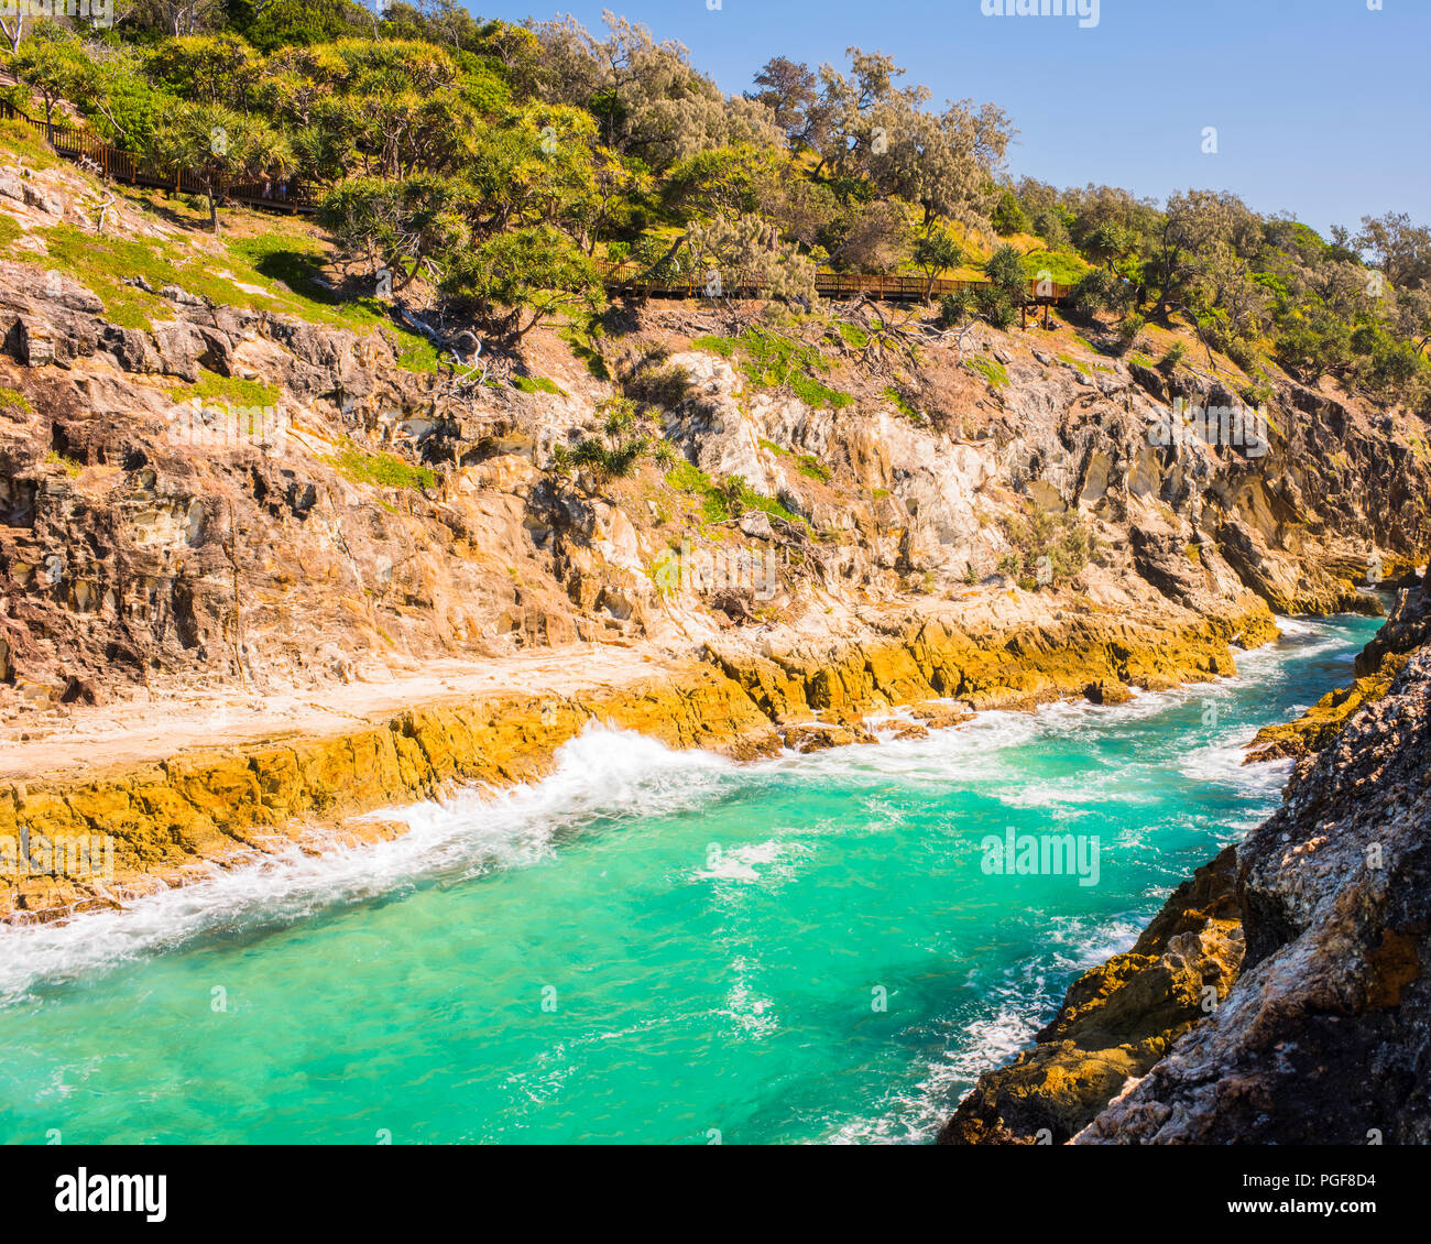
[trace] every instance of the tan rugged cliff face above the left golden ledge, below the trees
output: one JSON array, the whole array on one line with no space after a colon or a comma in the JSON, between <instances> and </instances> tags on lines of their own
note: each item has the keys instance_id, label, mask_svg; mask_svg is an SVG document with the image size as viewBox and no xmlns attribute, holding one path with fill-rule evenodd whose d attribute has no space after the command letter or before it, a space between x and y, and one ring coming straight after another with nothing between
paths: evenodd
<instances>
[{"instance_id":1,"label":"tan rugged cliff face above the left golden ledge, below the trees","mask_svg":"<svg viewBox=\"0 0 1431 1244\"><path fill-rule=\"evenodd\" d=\"M600 435L600 404L628 379L597 379L555 334L532 334L518 361L545 387L458 392L441 368L401 366L381 331L262 299L209 305L172 285L149 291L162 301L152 322L114 324L96 291L47 266L54 218L24 206L26 189L69 196L66 219L93 228L70 170L0 196L23 229L13 253L33 256L0 261L0 389L16 395L0 401L0 717L11 721L574 641L667 656L710 644L751 687L774 638L801 654L778 676L801 683L800 711L906 693L1112 703L1129 683L1228 673L1229 646L1271 637L1269 604L1372 607L1354 585L1372 555L1391 574L1425 538L1431 471L1407 429L1296 385L1281 385L1278 431L1256 458L1151 441L1173 398L1235 404L1219 385L1065 364L1032 335L970 338L1007 384L932 348L910 376L926 414L897 408L889 376L847 358L829 375L849 398L834 409L694 349L688 309L618 309L612 362L664 334L684 397L663 399L661 418L703 487L738 475L763 498L734 502L726 521L708 491L671 487L654 465L620 480L551 470L554 445ZM109 228L159 229L197 262L222 262L209 239L127 202ZM252 431L252 412L195 402L196 385L258 387L280 435L233 435ZM1039 518L1066 520L1092 550L1056 585L1036 577L1052 574L1043 545L1012 533ZM691 588L677 574L673 590L675 550L756 558L770 581ZM929 604L942 618L922 637ZM1059 656L1080 643L1085 657ZM985 651L946 660L966 647ZM899 648L916 676L890 664Z\"/></svg>"}]
</instances>

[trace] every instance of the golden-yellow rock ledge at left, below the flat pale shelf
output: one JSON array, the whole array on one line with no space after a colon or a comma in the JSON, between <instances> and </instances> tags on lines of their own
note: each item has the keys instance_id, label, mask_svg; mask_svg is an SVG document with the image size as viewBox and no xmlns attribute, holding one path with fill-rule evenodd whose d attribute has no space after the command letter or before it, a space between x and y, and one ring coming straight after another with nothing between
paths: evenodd
<instances>
[{"instance_id":1,"label":"golden-yellow rock ledge at left, below the flat pale shelf","mask_svg":"<svg viewBox=\"0 0 1431 1244\"><path fill-rule=\"evenodd\" d=\"M428 704L326 737L189 750L84 777L0 783L0 852L26 842L37 870L0 870L0 923L41 922L182 883L215 862L305 840L351 813L434 797L446 783L502 784L550 772L591 721L671 747L750 760L780 749L771 723L710 666L570 696L502 694ZM391 830L345 823L359 836ZM21 833L26 839L21 839ZM113 876L67 872L52 843L106 837ZM63 856L63 850L62 850Z\"/></svg>"}]
</instances>

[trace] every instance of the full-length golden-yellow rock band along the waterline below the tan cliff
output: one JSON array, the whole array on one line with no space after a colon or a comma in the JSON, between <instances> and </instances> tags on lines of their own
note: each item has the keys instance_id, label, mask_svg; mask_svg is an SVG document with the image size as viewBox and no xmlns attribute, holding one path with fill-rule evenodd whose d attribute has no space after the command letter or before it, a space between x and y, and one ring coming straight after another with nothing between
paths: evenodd
<instances>
[{"instance_id":1,"label":"full-length golden-yellow rock band along the waterline below the tan cliff","mask_svg":"<svg viewBox=\"0 0 1431 1244\"><path fill-rule=\"evenodd\" d=\"M864 719L890 709L929 706L924 720L937 727L964 710L1123 703L1129 686L1166 690L1234 674L1231 644L1251 650L1278 634L1265 607L1169 628L1076 618L1062 634L1037 627L977 638L954 628L952 614L934 611L897 640L843 641L823 653L796 643L767 643L764 654L708 650L707 660L638 650L618 659L544 653L469 676L467 686L484 680L485 693L465 691L454 676L441 696L421 704L394 709L392 691L384 699L378 689L368 716L315 706L323 716L313 720L333 726L326 733L255 732L146 759L135 759L135 740L120 736L112 749L119 760L70 763L39 777L16 777L10 743L0 746L0 840L21 832L31 840L104 839L114 870L103 885L53 873L0 878L0 923L120 908L213 866L252 862L275 843L322 849L335 839L391 837L401 827L371 813L455 784L539 779L557 749L591 720L677 750L751 760L784 746L876 742ZM514 677L535 669L545 683L528 677L527 691L511 689ZM368 687L345 690L355 701Z\"/></svg>"}]
</instances>

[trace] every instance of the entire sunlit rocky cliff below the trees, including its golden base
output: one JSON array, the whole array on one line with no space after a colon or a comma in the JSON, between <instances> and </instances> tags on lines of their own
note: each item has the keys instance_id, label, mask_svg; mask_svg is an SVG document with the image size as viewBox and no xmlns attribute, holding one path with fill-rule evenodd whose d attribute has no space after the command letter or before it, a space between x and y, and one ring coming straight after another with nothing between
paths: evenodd
<instances>
[{"instance_id":1,"label":"entire sunlit rocky cliff below the trees, including its golden base","mask_svg":"<svg viewBox=\"0 0 1431 1244\"><path fill-rule=\"evenodd\" d=\"M1098 324L956 342L917 308L633 303L482 352L361 299L302 223L235 212L215 239L43 165L0 152L0 807L117 833L135 878L243 830L143 766L202 743L233 749L215 773L266 772L306 729L275 706L321 701L349 756L376 729L398 777L375 799L501 766L469 724L459 762L404 767L402 713L341 691L422 709L435 670L534 653L587 714L612 684L581 670L620 650L705 720L675 742L820 746L894 703L939 721L1216 677L1274 610L1375 610L1368 567L1425 548L1424 424L1331 385L1274 376L1254 445L1156 434L1179 399L1242 409L1229 361L1165 374ZM665 461L562 465L614 398ZM544 700L479 699L557 739ZM187 734L110 746L166 714ZM87 802L77 759L119 794ZM292 799L256 779L239 819L336 806L349 779L318 769Z\"/></svg>"}]
</instances>

